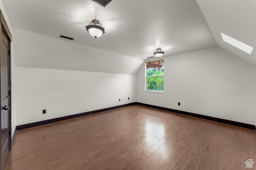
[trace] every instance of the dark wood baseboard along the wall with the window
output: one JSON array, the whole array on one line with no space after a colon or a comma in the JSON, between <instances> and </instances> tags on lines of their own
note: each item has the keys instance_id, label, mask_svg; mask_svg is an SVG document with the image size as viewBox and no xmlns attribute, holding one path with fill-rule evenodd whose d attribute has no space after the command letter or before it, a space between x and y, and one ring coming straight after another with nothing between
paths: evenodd
<instances>
[{"instance_id":1,"label":"dark wood baseboard along the wall with the window","mask_svg":"<svg viewBox=\"0 0 256 170\"><path fill-rule=\"evenodd\" d=\"M154 106L151 104L145 104L145 103L139 103L139 102L136 102L136 104L141 105L141 106L147 106L147 107L151 107L151 108L166 110L166 111L170 111L170 112L185 114L185 115L189 115L189 116L199 117L202 119L207 119L207 120L211 120L211 121L215 121L215 122L221 122L221 123L226 123L226 124L230 124L230 125L245 127L248 129L255 129L255 125L250 125L247 123L235 122L235 121L231 121L231 120L220 119L217 117L211 117L211 116L206 116L206 115L201 115L201 114L196 114L196 113L190 113L190 112L185 112L185 111L180 111L180 110L175 110L175 109L169 109L169 108L164 108L164 107L160 107L160 106Z\"/></svg>"}]
</instances>

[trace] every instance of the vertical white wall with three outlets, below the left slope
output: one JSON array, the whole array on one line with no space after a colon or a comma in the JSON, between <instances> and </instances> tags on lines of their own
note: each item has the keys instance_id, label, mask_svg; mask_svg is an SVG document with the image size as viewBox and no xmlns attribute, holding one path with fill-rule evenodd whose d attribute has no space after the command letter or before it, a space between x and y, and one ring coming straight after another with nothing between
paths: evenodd
<instances>
[{"instance_id":1,"label":"vertical white wall with three outlets, below the left slope","mask_svg":"<svg viewBox=\"0 0 256 170\"><path fill-rule=\"evenodd\" d=\"M135 75L26 67L16 71L17 125L136 101Z\"/></svg>"}]
</instances>

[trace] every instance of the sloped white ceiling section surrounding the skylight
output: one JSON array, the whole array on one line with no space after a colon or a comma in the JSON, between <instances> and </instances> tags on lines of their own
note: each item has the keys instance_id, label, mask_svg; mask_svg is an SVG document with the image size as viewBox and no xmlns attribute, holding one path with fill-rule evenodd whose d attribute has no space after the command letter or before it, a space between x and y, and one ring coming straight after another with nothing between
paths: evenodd
<instances>
[{"instance_id":1,"label":"sloped white ceiling section surrounding the skylight","mask_svg":"<svg viewBox=\"0 0 256 170\"><path fill-rule=\"evenodd\" d=\"M197 0L212 34L221 48L256 66L256 1L255 0ZM254 49L251 54L224 42L226 34Z\"/></svg>"}]
</instances>

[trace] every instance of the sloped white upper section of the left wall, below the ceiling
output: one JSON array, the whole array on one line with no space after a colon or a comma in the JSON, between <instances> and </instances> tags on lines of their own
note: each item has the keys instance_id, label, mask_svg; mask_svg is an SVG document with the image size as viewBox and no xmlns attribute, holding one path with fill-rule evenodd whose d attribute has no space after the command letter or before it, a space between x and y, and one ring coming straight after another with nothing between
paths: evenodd
<instances>
[{"instance_id":1,"label":"sloped white upper section of the left wall, below the ceiling","mask_svg":"<svg viewBox=\"0 0 256 170\"><path fill-rule=\"evenodd\" d=\"M61 34L61 33L60 33ZM136 74L144 60L13 28L16 66ZM84 41L100 41L100 38ZM111 44L111 42L109 42Z\"/></svg>"}]
</instances>

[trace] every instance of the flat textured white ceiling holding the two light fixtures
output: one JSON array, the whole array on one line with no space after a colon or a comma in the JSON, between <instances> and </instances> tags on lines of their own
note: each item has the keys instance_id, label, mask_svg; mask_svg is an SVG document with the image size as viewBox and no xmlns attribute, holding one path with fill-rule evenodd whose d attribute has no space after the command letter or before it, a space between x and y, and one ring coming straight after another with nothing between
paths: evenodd
<instances>
[{"instance_id":1,"label":"flat textured white ceiling holding the two light fixtures","mask_svg":"<svg viewBox=\"0 0 256 170\"><path fill-rule=\"evenodd\" d=\"M12 27L126 56L146 59L216 47L196 0L2 0ZM105 34L95 39L85 26L98 19ZM59 38L61 39L61 38ZM68 41L68 40L67 40Z\"/></svg>"}]
</instances>

